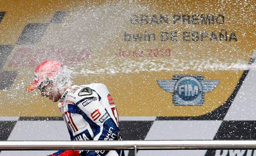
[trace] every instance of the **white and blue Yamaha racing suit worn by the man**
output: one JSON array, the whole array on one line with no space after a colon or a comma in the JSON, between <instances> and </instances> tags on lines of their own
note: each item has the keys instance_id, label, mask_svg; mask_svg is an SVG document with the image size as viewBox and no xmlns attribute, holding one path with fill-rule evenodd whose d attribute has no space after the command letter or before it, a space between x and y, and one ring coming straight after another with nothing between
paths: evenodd
<instances>
[{"instance_id":1,"label":"white and blue Yamaha racing suit worn by the man","mask_svg":"<svg viewBox=\"0 0 256 156\"><path fill-rule=\"evenodd\" d=\"M104 84L71 86L58 106L71 140L121 140L116 105ZM124 156L122 150L82 153L85 156Z\"/></svg>"}]
</instances>

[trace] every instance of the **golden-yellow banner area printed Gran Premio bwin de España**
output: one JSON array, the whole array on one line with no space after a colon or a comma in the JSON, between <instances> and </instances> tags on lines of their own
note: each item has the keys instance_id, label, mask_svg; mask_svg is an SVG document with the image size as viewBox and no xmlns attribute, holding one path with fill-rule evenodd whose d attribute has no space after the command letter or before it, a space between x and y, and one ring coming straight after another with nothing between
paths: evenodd
<instances>
[{"instance_id":1,"label":"golden-yellow banner area printed Gran Premio bwin de Espa\u00f1a","mask_svg":"<svg viewBox=\"0 0 256 156\"><path fill-rule=\"evenodd\" d=\"M3 116L61 116L24 89L46 59L104 83L120 116L204 116L228 109L256 49L254 1L0 4Z\"/></svg>"}]
</instances>

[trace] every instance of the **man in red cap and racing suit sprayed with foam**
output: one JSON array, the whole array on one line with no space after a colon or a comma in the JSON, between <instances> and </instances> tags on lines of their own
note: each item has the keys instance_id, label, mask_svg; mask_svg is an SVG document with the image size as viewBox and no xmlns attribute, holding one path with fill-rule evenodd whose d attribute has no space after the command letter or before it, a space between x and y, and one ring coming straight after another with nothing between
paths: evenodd
<instances>
[{"instance_id":1,"label":"man in red cap and racing suit sprayed with foam","mask_svg":"<svg viewBox=\"0 0 256 156\"><path fill-rule=\"evenodd\" d=\"M76 86L60 62L46 60L35 69L34 82L26 90L38 88L58 106L71 140L121 140L115 103L104 84ZM52 156L124 156L124 151L60 150Z\"/></svg>"}]
</instances>

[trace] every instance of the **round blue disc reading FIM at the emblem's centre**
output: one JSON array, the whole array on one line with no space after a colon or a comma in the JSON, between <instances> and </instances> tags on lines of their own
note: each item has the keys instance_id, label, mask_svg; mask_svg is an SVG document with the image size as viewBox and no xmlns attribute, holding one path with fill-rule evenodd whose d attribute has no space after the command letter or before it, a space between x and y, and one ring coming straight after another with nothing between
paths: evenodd
<instances>
[{"instance_id":1,"label":"round blue disc reading FIM at the emblem's centre","mask_svg":"<svg viewBox=\"0 0 256 156\"><path fill-rule=\"evenodd\" d=\"M186 78L178 84L178 96L185 101L195 100L199 95L199 84L193 79Z\"/></svg>"}]
</instances>

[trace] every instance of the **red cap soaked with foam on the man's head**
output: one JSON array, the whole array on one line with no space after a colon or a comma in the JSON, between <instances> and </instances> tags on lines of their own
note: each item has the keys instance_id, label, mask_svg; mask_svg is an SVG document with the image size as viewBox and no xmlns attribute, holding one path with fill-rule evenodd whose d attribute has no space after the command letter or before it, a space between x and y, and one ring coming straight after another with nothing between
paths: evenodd
<instances>
[{"instance_id":1,"label":"red cap soaked with foam on the man's head","mask_svg":"<svg viewBox=\"0 0 256 156\"><path fill-rule=\"evenodd\" d=\"M45 60L35 69L34 82L26 87L27 91L32 92L37 86L43 82L46 77L54 80L57 72L60 70L62 64L60 62Z\"/></svg>"}]
</instances>

